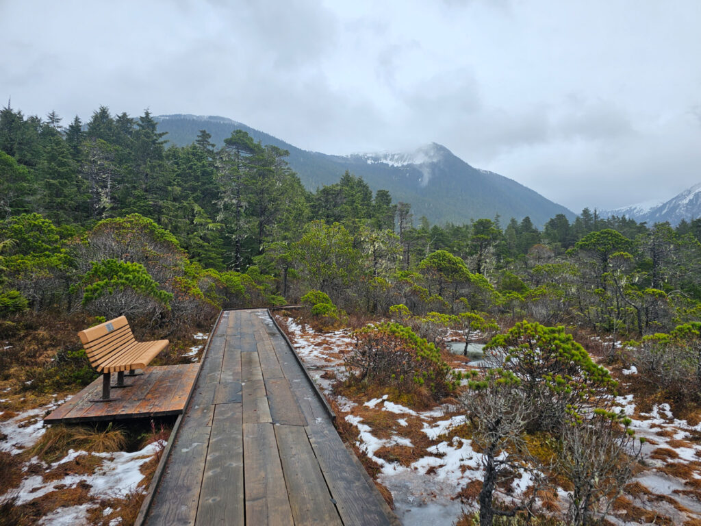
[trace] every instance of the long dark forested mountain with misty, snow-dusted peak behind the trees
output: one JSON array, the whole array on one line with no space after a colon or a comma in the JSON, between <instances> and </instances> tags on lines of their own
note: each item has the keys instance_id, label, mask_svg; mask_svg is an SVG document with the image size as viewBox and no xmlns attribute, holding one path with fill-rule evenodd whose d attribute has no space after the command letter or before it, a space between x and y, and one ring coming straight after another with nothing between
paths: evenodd
<instances>
[{"instance_id":1,"label":"long dark forested mountain with misty, snow-dusted peak behind the trees","mask_svg":"<svg viewBox=\"0 0 701 526\"><path fill-rule=\"evenodd\" d=\"M290 151L287 162L307 189L338 182L348 170L362 177L373 190L390 191L395 202L411 203L414 217L425 215L433 223L464 223L500 215L503 220L528 215L543 226L557 214L570 220L575 215L524 185L497 173L473 168L440 144L427 144L414 151L337 156L306 151L243 123L219 116L163 115L156 117L165 139L184 146L199 130L207 130L217 146L233 130L244 130L254 140Z\"/></svg>"}]
</instances>

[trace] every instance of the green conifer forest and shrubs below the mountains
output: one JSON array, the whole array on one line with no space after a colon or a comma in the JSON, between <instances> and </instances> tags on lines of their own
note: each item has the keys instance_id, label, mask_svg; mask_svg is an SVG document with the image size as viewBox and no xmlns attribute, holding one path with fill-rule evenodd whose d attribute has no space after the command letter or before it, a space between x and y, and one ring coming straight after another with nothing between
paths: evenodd
<instances>
[{"instance_id":1,"label":"green conifer forest and shrubs below the mountains","mask_svg":"<svg viewBox=\"0 0 701 526\"><path fill-rule=\"evenodd\" d=\"M648 398L698 412L701 219L671 227L585 208L542 228L430 224L352 173L306 189L287 151L241 130L221 148L210 139L169 146L148 111L100 107L85 123L0 111L0 380L13 393L91 382L75 334L121 314L137 337L175 342L163 363L176 363L220 309L302 304L319 330L355 330L348 396L460 404L486 459L477 515L463 520L482 526L524 513L585 525L611 511L641 447L613 410L611 368L634 365ZM493 367L456 365L449 336L486 343ZM519 469L548 476L498 497ZM534 504L546 479L569 491L562 516Z\"/></svg>"}]
</instances>

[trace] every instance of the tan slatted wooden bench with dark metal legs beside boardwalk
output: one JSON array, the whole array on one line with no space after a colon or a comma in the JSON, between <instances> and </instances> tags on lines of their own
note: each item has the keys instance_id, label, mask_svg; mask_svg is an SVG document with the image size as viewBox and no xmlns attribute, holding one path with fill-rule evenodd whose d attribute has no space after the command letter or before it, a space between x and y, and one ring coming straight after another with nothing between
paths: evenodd
<instances>
[{"instance_id":1,"label":"tan slatted wooden bench with dark metal legs beside boardwalk","mask_svg":"<svg viewBox=\"0 0 701 526\"><path fill-rule=\"evenodd\" d=\"M136 376L136 369L143 369L168 345L167 339L154 342L137 342L125 316L100 323L78 333L83 347L88 353L90 365L102 373L102 399L110 398L111 373L117 373L114 387L128 387L124 384L124 372Z\"/></svg>"}]
</instances>

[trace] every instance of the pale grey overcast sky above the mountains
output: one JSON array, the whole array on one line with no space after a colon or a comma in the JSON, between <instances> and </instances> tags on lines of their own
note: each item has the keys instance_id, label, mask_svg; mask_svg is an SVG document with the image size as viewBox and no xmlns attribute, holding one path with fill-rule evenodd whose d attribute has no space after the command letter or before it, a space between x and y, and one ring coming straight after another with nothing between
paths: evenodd
<instances>
[{"instance_id":1,"label":"pale grey overcast sky above the mountains","mask_svg":"<svg viewBox=\"0 0 701 526\"><path fill-rule=\"evenodd\" d=\"M0 101L438 142L578 212L701 182L699 27L699 0L0 0Z\"/></svg>"}]
</instances>

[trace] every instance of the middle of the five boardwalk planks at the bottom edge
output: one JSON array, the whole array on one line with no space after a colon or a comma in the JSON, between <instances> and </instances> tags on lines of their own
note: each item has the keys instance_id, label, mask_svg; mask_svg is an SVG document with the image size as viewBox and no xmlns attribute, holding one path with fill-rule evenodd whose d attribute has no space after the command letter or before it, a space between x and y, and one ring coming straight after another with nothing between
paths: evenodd
<instances>
[{"instance_id":1,"label":"middle of the five boardwalk planks at the bottom edge","mask_svg":"<svg viewBox=\"0 0 701 526\"><path fill-rule=\"evenodd\" d=\"M243 424L246 523L293 525L272 424Z\"/></svg>"}]
</instances>

